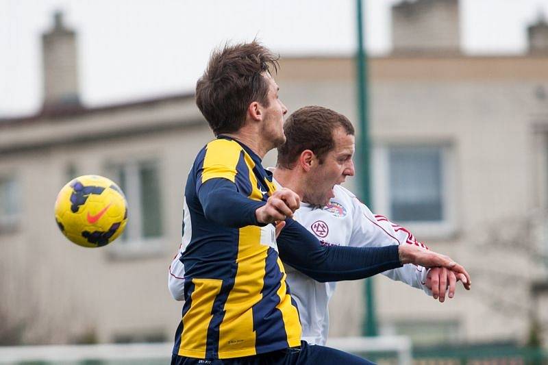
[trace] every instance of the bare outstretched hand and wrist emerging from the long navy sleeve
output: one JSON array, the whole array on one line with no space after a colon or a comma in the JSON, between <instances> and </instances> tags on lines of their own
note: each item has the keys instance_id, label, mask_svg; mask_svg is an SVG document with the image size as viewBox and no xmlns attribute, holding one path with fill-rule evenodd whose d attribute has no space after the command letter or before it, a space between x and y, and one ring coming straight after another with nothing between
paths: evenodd
<instances>
[{"instance_id":1,"label":"bare outstretched hand and wrist emerging from the long navy sleeve","mask_svg":"<svg viewBox=\"0 0 548 365\"><path fill-rule=\"evenodd\" d=\"M460 281L462 281L462 284L466 290L470 290L472 284L470 275L466 272L464 267L451 260L451 257L436 253L434 251L421 249L414 244L400 244L398 248L399 262L401 262L402 265L415 264L424 267L449 268L456 274L462 274Z\"/></svg>"}]
</instances>

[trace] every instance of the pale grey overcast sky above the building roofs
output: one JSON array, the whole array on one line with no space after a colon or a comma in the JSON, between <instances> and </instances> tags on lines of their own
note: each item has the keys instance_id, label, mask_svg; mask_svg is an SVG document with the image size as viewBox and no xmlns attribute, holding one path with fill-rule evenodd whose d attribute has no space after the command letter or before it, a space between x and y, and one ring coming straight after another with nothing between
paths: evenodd
<instances>
[{"instance_id":1,"label":"pale grey overcast sky above the building roofs","mask_svg":"<svg viewBox=\"0 0 548 365\"><path fill-rule=\"evenodd\" d=\"M389 7L364 0L372 54L390 51ZM79 35L86 105L192 90L210 51L251 40L284 55L350 54L354 0L0 0L0 116L31 114L42 99L40 34L55 9ZM548 0L460 0L466 53L521 53L525 28Z\"/></svg>"}]
</instances>

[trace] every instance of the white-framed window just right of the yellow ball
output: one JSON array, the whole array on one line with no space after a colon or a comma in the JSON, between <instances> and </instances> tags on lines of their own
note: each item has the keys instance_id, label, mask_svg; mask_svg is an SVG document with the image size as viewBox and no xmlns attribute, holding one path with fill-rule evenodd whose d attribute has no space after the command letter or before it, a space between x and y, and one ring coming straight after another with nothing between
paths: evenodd
<instances>
[{"instance_id":1,"label":"white-framed window just right of the yellow ball","mask_svg":"<svg viewBox=\"0 0 548 365\"><path fill-rule=\"evenodd\" d=\"M119 238L126 248L158 251L162 236L162 197L158 162L132 161L108 166L127 199L127 226Z\"/></svg>"}]
</instances>

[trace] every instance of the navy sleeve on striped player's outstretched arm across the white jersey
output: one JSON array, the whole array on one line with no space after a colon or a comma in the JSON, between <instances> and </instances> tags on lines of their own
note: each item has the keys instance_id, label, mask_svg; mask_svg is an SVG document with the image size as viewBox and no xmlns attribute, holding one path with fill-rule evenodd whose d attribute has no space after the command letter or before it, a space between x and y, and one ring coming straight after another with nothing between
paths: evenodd
<instances>
[{"instance_id":1,"label":"navy sleeve on striped player's outstretched arm across the white jersey","mask_svg":"<svg viewBox=\"0 0 548 365\"><path fill-rule=\"evenodd\" d=\"M401 267L395 245L325 246L290 218L276 241L282 261L320 282L364 279Z\"/></svg>"}]
</instances>

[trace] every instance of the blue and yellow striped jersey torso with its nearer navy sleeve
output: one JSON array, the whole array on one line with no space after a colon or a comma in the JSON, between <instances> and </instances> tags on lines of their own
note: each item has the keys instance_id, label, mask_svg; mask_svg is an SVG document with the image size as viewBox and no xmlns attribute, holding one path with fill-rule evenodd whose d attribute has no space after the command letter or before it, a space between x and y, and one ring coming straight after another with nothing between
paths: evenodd
<instances>
[{"instance_id":1,"label":"blue and yellow striped jersey torso with its nearer navy sleeve","mask_svg":"<svg viewBox=\"0 0 548 365\"><path fill-rule=\"evenodd\" d=\"M275 228L255 218L274 190L258 155L236 140L220 136L197 155L185 189L186 301L174 353L223 359L299 346ZM230 199L236 194L245 199Z\"/></svg>"}]
</instances>

